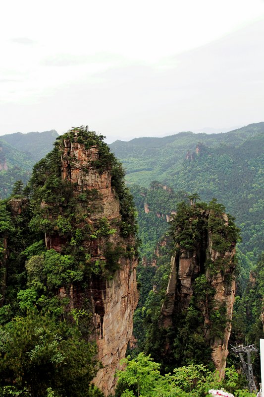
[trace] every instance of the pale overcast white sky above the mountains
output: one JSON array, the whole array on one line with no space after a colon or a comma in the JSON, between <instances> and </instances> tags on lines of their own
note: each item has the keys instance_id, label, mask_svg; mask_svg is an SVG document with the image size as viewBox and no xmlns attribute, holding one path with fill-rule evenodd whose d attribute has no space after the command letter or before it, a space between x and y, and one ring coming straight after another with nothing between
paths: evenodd
<instances>
[{"instance_id":1,"label":"pale overcast white sky above the mountains","mask_svg":"<svg viewBox=\"0 0 264 397\"><path fill-rule=\"evenodd\" d=\"M0 135L264 121L264 0L10 0L0 51Z\"/></svg>"}]
</instances>

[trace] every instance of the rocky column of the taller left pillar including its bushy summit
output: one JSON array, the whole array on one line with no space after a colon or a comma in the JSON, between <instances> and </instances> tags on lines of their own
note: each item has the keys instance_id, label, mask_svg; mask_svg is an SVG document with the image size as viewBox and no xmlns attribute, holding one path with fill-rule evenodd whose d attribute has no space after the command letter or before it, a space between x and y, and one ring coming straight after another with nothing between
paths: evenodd
<instances>
[{"instance_id":1,"label":"rocky column of the taller left pillar including its bushy summit","mask_svg":"<svg viewBox=\"0 0 264 397\"><path fill-rule=\"evenodd\" d=\"M82 283L61 285L58 296L69 299L68 311L89 307L90 339L97 342L98 360L103 366L93 382L107 396L114 391L114 373L125 357L138 302L135 235L123 215L129 209L122 203L126 188L122 186L120 192L119 180L117 187L113 186L113 168L120 165L95 133L71 130L59 138L56 147L62 184L75 202L74 228L83 233L82 250L91 268ZM65 201L54 208L43 199L44 218L57 225L67 211ZM45 231L45 242L48 249L63 253L69 236L55 226ZM114 270L107 270L112 262Z\"/></svg>"}]
</instances>

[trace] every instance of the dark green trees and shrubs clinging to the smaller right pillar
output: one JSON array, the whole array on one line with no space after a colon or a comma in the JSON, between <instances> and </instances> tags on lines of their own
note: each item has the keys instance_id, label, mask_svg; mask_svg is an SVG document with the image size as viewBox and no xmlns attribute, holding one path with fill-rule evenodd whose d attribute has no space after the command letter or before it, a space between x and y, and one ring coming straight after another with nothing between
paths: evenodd
<instances>
[{"instance_id":1,"label":"dark green trees and shrubs clinging to the smaller right pillar","mask_svg":"<svg viewBox=\"0 0 264 397\"><path fill-rule=\"evenodd\" d=\"M218 204L216 200L207 204L199 202L198 199L197 195L192 195L192 205L190 202L180 202L176 208L177 214L172 216L170 222L170 234L174 240L172 251L176 256L176 264L179 263L179 255L183 250L189 251L191 256L195 251L200 258L200 270L195 275L194 294L190 303L187 307L182 307L183 303L181 297L177 296L176 289L171 326L162 326L160 310L167 299L165 292L171 255L169 240L166 239L166 245L162 247L162 256L159 256L161 253L158 252L156 258L158 268L152 278L155 288L149 292L148 297L144 289L145 301L141 299L135 313L134 333L139 339L139 349L152 354L155 360L161 362L163 371L171 370L175 365L209 365L211 342L214 338L222 338L226 327L226 307L223 304L215 309L215 290L211 280L220 272L224 284L230 283L232 274L229 271L226 273L224 254L233 249L239 238L239 230L229 215L228 224L225 222L227 218L223 216L223 205ZM204 252L208 236L212 242L212 249L219 253L217 260L212 262L209 261L209 254L206 255ZM228 263L228 270L229 266ZM233 266L235 267L235 264ZM140 282L144 276L147 278L143 266L140 269ZM205 333L208 335L207 338Z\"/></svg>"}]
</instances>

